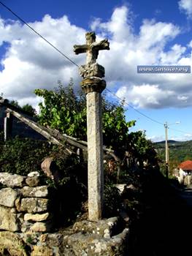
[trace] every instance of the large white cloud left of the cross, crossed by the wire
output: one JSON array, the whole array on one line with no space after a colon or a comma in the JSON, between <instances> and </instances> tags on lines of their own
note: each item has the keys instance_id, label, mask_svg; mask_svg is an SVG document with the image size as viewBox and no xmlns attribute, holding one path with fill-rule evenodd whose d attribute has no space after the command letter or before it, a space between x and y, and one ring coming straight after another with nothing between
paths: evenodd
<instances>
[{"instance_id":1,"label":"large white cloud left of the cross, crossed by the wire","mask_svg":"<svg viewBox=\"0 0 192 256\"><path fill-rule=\"evenodd\" d=\"M45 15L42 21L30 24L57 48L74 59L73 44L84 39L85 31L69 23L66 16L53 19ZM9 48L1 59L0 91L4 97L15 98L19 102L26 99L33 105L34 89L53 89L58 80L68 83L77 80L77 67L72 65L50 45L18 22L6 23L0 20L1 44L9 43ZM77 63L82 56L76 58Z\"/></svg>"}]
</instances>

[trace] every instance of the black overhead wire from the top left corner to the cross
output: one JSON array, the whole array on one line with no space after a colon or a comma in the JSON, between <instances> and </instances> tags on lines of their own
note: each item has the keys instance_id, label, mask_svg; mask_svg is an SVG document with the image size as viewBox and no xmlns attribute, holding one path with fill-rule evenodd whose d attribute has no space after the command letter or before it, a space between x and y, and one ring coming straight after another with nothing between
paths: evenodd
<instances>
[{"instance_id":1,"label":"black overhead wire from the top left corner to the cross","mask_svg":"<svg viewBox=\"0 0 192 256\"><path fill-rule=\"evenodd\" d=\"M34 28L32 28L30 25L28 25L28 23L26 23L25 20L23 20L23 18L20 18L20 16L18 16L15 12L13 12L9 7L7 7L7 5L5 5L4 3L2 3L0 1L0 4L2 6L4 6L7 10L9 10L9 12L12 12L13 15L15 15L15 17L17 17L21 22L23 22L24 24L26 24L26 26L28 26L29 29L31 29L32 31L34 31L35 34L37 34L39 37L41 37L42 39L44 39L45 42L47 42L47 44L49 44L50 46L52 46L55 50L58 51L58 53L61 53L62 56L64 56L66 59L68 59L69 61L72 62L72 64L74 64L75 66L79 67L74 61L72 61L72 59L70 59L69 57L67 57L64 53L61 52L61 50L59 50L58 48L55 47L55 45L53 45L51 42L49 42L45 37L43 37L41 34L39 34Z\"/></svg>"}]
</instances>

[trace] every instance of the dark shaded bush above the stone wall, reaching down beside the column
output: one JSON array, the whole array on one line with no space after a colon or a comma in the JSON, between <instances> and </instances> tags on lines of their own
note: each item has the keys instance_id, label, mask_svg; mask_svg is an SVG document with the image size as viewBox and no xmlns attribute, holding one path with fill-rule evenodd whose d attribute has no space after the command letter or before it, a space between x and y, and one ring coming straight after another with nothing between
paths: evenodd
<instances>
[{"instance_id":1,"label":"dark shaded bush above the stone wall, reaching down beside the column","mask_svg":"<svg viewBox=\"0 0 192 256\"><path fill-rule=\"evenodd\" d=\"M53 157L60 181L55 183L41 170L45 157ZM46 141L14 138L1 143L0 171L27 176L39 171L42 184L53 187L53 211L56 225L70 225L80 214L87 200L87 165L76 155L69 156L65 148ZM1 189L1 187L0 187Z\"/></svg>"}]
</instances>

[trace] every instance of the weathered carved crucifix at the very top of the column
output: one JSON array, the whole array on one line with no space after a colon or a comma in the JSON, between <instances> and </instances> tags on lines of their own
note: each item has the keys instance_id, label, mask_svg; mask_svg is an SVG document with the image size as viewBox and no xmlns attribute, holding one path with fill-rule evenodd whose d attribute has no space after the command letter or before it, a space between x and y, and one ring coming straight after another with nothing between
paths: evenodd
<instances>
[{"instance_id":1,"label":"weathered carved crucifix at the very top of the column","mask_svg":"<svg viewBox=\"0 0 192 256\"><path fill-rule=\"evenodd\" d=\"M74 53L87 53L86 64L96 63L99 50L110 50L110 43L107 39L104 39L101 42L96 42L96 34L94 32L86 33L85 37L86 45L74 45Z\"/></svg>"}]
</instances>

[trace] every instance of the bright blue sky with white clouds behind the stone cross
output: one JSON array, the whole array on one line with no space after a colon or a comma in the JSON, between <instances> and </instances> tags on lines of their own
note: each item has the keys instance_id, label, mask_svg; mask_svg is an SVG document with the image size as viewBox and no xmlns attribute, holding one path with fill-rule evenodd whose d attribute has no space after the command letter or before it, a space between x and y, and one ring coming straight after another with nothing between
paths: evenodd
<instances>
[{"instance_id":1,"label":"bright blue sky with white clouds behind the stone cross","mask_svg":"<svg viewBox=\"0 0 192 256\"><path fill-rule=\"evenodd\" d=\"M73 45L85 43L85 33L108 38L110 50L99 53L105 68L107 98L126 101L131 131L143 130L153 141L192 140L192 82L188 74L139 74L138 65L192 64L192 0L2 0L39 34L77 65ZM0 4L0 94L20 105L37 108L34 89L53 89L58 80L73 78L77 66L61 56ZM115 95L118 97L115 97ZM131 105L131 107L130 107ZM176 122L180 121L180 124Z\"/></svg>"}]
</instances>

